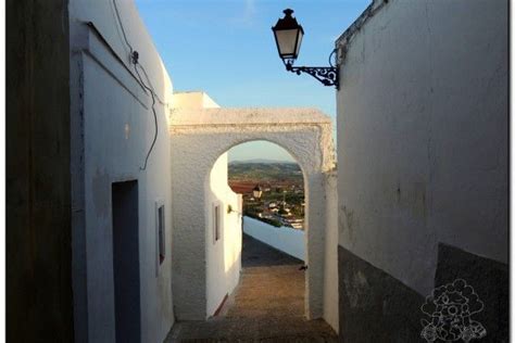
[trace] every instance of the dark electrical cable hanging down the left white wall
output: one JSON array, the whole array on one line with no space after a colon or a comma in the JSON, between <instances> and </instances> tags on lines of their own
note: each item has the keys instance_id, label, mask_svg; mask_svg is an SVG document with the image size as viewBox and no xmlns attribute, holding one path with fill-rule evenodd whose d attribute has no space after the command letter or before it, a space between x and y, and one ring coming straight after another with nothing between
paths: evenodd
<instances>
[{"instance_id":1,"label":"dark electrical cable hanging down the left white wall","mask_svg":"<svg viewBox=\"0 0 515 343\"><path fill-rule=\"evenodd\" d=\"M149 75L147 74L147 71L139 63L139 53L138 53L138 51L134 50L133 46L130 45L129 40L127 39L127 35L125 33L125 28L124 28L124 25L122 23L122 18L120 17L120 12L118 12L118 7L116 5L116 0L113 0L113 5L114 5L114 12L116 14L116 20L120 24L120 28L122 29L122 36L124 37L125 43L127 45L127 47L129 48L129 51L130 51L130 62L134 65L134 69L136 72L136 75L138 76L138 79L139 79L139 82L140 82L141 87L143 87L146 92L147 91L150 92L150 96L152 97L152 114L154 116L155 131L154 131L154 137L152 139L152 143L150 144L149 151L147 152L147 156L145 157L145 164L143 164L142 167L139 167L140 170L146 170L147 169L147 164L149 162L150 154L152 153L152 150L154 149L155 142L158 140L158 114L155 113L155 99L158 99L162 104L165 104L165 103L161 99L159 99L158 94L155 93L155 91L152 87L152 82L150 82L150 78L149 78ZM141 71L143 72L145 77L147 78L147 82L149 85L147 85L143 81L141 75L139 74L138 67L141 68Z\"/></svg>"}]
</instances>

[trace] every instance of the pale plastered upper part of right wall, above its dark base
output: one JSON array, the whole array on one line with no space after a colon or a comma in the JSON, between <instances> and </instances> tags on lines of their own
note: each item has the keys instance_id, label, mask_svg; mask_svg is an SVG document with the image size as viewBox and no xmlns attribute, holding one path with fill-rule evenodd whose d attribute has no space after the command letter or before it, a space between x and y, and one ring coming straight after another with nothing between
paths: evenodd
<instances>
[{"instance_id":1,"label":"pale plastered upper part of right wall, above its dark base","mask_svg":"<svg viewBox=\"0 0 515 343\"><path fill-rule=\"evenodd\" d=\"M507 263L506 5L390 1L340 40L339 244L423 295L439 243Z\"/></svg>"}]
</instances>

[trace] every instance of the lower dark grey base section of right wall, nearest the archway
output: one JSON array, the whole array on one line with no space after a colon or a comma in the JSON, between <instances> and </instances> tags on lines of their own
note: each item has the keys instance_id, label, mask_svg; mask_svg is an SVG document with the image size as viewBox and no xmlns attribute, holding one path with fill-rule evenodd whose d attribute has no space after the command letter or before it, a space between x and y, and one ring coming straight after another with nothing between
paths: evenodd
<instances>
[{"instance_id":1,"label":"lower dark grey base section of right wall, nearest the archway","mask_svg":"<svg viewBox=\"0 0 515 343\"><path fill-rule=\"evenodd\" d=\"M418 342L424 297L338 246L340 342Z\"/></svg>"}]
</instances>

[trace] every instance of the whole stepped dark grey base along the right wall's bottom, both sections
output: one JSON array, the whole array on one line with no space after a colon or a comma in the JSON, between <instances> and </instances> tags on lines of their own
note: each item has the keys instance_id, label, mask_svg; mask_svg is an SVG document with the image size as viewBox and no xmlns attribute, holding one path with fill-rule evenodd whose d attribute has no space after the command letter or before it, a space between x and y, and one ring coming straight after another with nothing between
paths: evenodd
<instances>
[{"instance_id":1,"label":"whole stepped dark grey base along the right wall's bottom, both sections","mask_svg":"<svg viewBox=\"0 0 515 343\"><path fill-rule=\"evenodd\" d=\"M340 342L424 342L420 306L429 294L418 294L340 245L338 275ZM478 342L508 342L507 265L440 243L435 288L456 279L485 304L470 318L487 330Z\"/></svg>"}]
</instances>

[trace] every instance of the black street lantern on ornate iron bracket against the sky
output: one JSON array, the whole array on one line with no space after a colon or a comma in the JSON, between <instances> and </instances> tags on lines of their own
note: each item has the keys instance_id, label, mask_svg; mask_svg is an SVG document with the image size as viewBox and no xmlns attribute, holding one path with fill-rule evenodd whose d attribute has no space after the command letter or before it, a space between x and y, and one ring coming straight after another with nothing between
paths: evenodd
<instances>
[{"instance_id":1,"label":"black street lantern on ornate iron bracket against the sky","mask_svg":"<svg viewBox=\"0 0 515 343\"><path fill-rule=\"evenodd\" d=\"M339 89L338 66L332 66L330 61L336 49L332 50L329 55L330 66L293 66L293 62L299 56L304 29L297 23L297 20L291 16L293 10L286 9L282 13L285 13L285 17L279 18L277 24L272 27L272 30L274 31L277 52L282 63L285 63L286 69L297 73L297 75L307 73L324 86L335 86L336 89Z\"/></svg>"}]
</instances>

